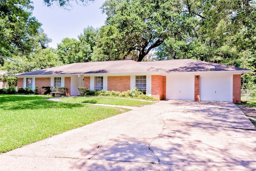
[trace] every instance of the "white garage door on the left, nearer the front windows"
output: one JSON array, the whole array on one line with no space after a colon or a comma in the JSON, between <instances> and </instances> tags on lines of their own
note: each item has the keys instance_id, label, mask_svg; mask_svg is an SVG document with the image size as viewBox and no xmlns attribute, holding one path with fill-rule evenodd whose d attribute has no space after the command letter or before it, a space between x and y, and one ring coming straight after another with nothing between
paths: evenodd
<instances>
[{"instance_id":1,"label":"white garage door on the left, nearer the front windows","mask_svg":"<svg viewBox=\"0 0 256 171\"><path fill-rule=\"evenodd\" d=\"M167 76L166 99L194 100L194 75Z\"/></svg>"}]
</instances>

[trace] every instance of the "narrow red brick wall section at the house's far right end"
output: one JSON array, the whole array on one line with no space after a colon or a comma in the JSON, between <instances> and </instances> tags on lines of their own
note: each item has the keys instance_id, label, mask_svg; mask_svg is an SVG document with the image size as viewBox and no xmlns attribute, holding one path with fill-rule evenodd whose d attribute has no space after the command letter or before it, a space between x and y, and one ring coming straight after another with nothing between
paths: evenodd
<instances>
[{"instance_id":1,"label":"narrow red brick wall section at the house's far right end","mask_svg":"<svg viewBox=\"0 0 256 171\"><path fill-rule=\"evenodd\" d=\"M241 103L241 75L233 75L233 103Z\"/></svg>"}]
</instances>

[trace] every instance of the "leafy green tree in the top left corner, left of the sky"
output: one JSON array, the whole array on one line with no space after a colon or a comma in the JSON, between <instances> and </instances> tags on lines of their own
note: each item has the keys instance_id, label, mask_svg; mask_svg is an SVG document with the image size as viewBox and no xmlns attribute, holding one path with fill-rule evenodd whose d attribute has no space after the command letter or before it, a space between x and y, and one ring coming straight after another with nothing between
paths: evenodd
<instances>
[{"instance_id":1,"label":"leafy green tree in the top left corner, left of the sky","mask_svg":"<svg viewBox=\"0 0 256 171\"><path fill-rule=\"evenodd\" d=\"M41 23L32 16L30 0L0 0L0 56L29 53Z\"/></svg>"}]
</instances>

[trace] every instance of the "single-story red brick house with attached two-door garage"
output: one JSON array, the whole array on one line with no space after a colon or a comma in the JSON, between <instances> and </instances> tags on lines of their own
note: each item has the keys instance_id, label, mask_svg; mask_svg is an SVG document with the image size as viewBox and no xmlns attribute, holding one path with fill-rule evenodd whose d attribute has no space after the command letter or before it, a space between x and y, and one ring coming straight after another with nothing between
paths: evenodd
<instances>
[{"instance_id":1,"label":"single-story red brick house with attached two-door garage","mask_svg":"<svg viewBox=\"0 0 256 171\"><path fill-rule=\"evenodd\" d=\"M241 74L251 70L191 59L136 62L133 60L74 63L17 74L18 87L38 85L126 91L137 87L158 99L230 101L240 103Z\"/></svg>"}]
</instances>

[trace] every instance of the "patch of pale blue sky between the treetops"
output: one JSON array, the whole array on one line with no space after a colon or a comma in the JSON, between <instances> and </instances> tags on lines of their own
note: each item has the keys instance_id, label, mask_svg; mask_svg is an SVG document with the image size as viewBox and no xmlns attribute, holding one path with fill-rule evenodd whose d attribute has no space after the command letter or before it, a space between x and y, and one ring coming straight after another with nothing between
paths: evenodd
<instances>
[{"instance_id":1,"label":"patch of pale blue sky between the treetops","mask_svg":"<svg viewBox=\"0 0 256 171\"><path fill-rule=\"evenodd\" d=\"M84 28L94 28L104 25L106 15L102 14L100 7L104 0L95 0L88 6L72 3L72 10L64 10L57 5L47 7L43 0L34 0L33 16L42 23L44 32L52 39L50 47L56 48L64 38L76 38Z\"/></svg>"}]
</instances>

